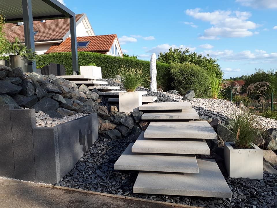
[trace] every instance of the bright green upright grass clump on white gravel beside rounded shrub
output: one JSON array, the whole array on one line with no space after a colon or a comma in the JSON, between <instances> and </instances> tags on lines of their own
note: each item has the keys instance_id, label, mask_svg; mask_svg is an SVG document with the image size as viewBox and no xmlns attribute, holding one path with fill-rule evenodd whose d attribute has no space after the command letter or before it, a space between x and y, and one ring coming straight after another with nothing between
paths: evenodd
<instances>
[{"instance_id":1,"label":"bright green upright grass clump on white gravel beside rounded shrub","mask_svg":"<svg viewBox=\"0 0 277 208\"><path fill-rule=\"evenodd\" d=\"M214 73L208 74L208 91L212 99L218 99L221 90L222 79L216 76Z\"/></svg>"}]
</instances>

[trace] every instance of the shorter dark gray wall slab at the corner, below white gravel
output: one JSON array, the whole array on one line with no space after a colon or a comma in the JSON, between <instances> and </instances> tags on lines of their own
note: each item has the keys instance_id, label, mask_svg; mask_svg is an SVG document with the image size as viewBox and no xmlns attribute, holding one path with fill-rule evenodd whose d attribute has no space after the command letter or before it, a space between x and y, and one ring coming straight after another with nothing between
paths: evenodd
<instances>
[{"instance_id":1,"label":"shorter dark gray wall slab at the corner, below white gravel","mask_svg":"<svg viewBox=\"0 0 277 208\"><path fill-rule=\"evenodd\" d=\"M60 178L60 160L57 127L34 128L36 181L54 184Z\"/></svg>"}]
</instances>

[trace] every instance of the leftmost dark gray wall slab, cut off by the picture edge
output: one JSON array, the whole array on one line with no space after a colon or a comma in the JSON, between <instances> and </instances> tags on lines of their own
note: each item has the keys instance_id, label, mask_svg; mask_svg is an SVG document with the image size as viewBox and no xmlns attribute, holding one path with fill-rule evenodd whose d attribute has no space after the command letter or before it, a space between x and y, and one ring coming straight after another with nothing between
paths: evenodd
<instances>
[{"instance_id":1,"label":"leftmost dark gray wall slab, cut off by the picture edge","mask_svg":"<svg viewBox=\"0 0 277 208\"><path fill-rule=\"evenodd\" d=\"M0 105L0 176L15 178L10 105Z\"/></svg>"}]
</instances>

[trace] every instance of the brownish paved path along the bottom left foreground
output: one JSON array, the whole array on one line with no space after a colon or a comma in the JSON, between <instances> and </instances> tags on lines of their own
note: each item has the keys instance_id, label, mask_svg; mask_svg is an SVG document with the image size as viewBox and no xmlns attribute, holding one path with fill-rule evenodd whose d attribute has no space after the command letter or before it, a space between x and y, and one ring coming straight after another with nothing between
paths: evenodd
<instances>
[{"instance_id":1,"label":"brownish paved path along the bottom left foreground","mask_svg":"<svg viewBox=\"0 0 277 208\"><path fill-rule=\"evenodd\" d=\"M173 204L0 178L1 208L172 208ZM180 207L176 205L176 207ZM190 207L190 206L181 206Z\"/></svg>"}]
</instances>

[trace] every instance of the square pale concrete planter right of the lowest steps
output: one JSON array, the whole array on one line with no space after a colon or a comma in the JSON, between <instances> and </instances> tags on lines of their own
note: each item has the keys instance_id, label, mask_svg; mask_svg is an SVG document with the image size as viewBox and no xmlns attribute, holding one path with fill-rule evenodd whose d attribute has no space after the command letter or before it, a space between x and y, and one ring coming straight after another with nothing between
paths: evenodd
<instances>
[{"instance_id":1,"label":"square pale concrete planter right of the lowest steps","mask_svg":"<svg viewBox=\"0 0 277 208\"><path fill-rule=\"evenodd\" d=\"M263 150L234 149L231 142L224 144L224 161L231 178L263 179Z\"/></svg>"}]
</instances>

